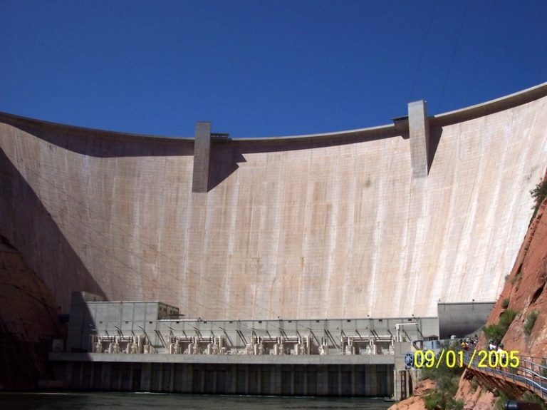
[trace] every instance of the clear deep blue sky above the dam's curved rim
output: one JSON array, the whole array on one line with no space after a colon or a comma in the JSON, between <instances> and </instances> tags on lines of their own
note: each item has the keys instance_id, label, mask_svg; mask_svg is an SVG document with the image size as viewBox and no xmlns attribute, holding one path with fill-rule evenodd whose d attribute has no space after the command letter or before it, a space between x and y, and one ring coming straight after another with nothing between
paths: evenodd
<instances>
[{"instance_id":1,"label":"clear deep blue sky above the dam's curved rim","mask_svg":"<svg viewBox=\"0 0 547 410\"><path fill-rule=\"evenodd\" d=\"M232 137L365 128L547 81L547 1L0 0L0 111Z\"/></svg>"}]
</instances>

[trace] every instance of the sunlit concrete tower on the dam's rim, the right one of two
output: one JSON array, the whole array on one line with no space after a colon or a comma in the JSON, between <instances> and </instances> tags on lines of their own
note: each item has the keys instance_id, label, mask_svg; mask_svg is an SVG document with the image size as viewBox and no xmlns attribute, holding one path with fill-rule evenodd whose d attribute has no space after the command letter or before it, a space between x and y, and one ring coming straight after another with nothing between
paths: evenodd
<instances>
[{"instance_id":1,"label":"sunlit concrete tower on the dam's rim, the right one of two","mask_svg":"<svg viewBox=\"0 0 547 410\"><path fill-rule=\"evenodd\" d=\"M429 166L429 120L425 101L408 103L412 178L427 177Z\"/></svg>"}]
</instances>

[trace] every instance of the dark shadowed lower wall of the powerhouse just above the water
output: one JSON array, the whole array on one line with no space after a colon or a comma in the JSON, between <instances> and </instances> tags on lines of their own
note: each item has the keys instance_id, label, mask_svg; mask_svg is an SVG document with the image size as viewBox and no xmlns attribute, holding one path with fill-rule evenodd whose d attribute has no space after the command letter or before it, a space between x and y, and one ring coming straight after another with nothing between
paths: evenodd
<instances>
[{"instance_id":1,"label":"dark shadowed lower wall of the powerhouse just above the water","mask_svg":"<svg viewBox=\"0 0 547 410\"><path fill-rule=\"evenodd\" d=\"M68 362L72 389L283 396L391 396L392 364Z\"/></svg>"}]
</instances>

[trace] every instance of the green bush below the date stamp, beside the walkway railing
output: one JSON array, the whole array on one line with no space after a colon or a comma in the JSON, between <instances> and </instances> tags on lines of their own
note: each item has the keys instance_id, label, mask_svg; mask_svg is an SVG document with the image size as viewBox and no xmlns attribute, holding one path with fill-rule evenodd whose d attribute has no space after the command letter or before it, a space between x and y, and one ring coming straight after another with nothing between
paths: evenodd
<instances>
[{"instance_id":1,"label":"green bush below the date stamp, beside the walkway railing","mask_svg":"<svg viewBox=\"0 0 547 410\"><path fill-rule=\"evenodd\" d=\"M454 350L453 348L449 349ZM442 361L439 367L423 369L422 379L432 379L437 384L436 390L423 396L427 410L462 410L464 408L464 401L454 400L463 370L459 366L447 367L446 361Z\"/></svg>"}]
</instances>

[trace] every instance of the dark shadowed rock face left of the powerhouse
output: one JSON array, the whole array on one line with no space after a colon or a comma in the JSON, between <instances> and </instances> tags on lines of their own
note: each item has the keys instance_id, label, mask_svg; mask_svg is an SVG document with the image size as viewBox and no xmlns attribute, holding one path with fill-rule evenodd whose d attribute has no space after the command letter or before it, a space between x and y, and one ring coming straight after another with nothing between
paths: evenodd
<instances>
[{"instance_id":1,"label":"dark shadowed rock face left of the powerhouse","mask_svg":"<svg viewBox=\"0 0 547 410\"><path fill-rule=\"evenodd\" d=\"M34 389L47 352L63 335L58 306L21 253L0 236L0 390Z\"/></svg>"}]
</instances>

